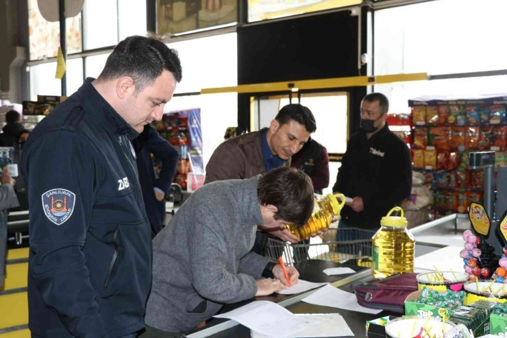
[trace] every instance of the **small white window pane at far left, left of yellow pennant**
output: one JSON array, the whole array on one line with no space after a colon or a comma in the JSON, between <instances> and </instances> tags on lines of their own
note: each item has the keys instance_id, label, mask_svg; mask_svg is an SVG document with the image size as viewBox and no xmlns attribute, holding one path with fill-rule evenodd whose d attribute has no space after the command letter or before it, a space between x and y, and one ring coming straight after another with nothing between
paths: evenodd
<instances>
[{"instance_id":1,"label":"small white window pane at far left, left of yellow pennant","mask_svg":"<svg viewBox=\"0 0 507 338\"><path fill-rule=\"evenodd\" d=\"M37 101L37 95L61 95L62 81L55 79L56 62L30 67L30 99Z\"/></svg>"}]
</instances>

